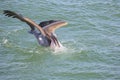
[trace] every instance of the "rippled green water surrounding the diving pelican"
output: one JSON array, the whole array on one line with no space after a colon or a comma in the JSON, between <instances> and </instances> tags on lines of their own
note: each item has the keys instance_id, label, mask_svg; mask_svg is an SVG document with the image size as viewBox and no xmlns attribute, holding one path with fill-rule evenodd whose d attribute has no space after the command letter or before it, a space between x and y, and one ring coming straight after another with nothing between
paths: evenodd
<instances>
[{"instance_id":1,"label":"rippled green water surrounding the diving pelican","mask_svg":"<svg viewBox=\"0 0 120 80\"><path fill-rule=\"evenodd\" d=\"M56 31L67 49L39 46L4 9L67 21ZM120 80L120 0L0 0L0 80Z\"/></svg>"}]
</instances>

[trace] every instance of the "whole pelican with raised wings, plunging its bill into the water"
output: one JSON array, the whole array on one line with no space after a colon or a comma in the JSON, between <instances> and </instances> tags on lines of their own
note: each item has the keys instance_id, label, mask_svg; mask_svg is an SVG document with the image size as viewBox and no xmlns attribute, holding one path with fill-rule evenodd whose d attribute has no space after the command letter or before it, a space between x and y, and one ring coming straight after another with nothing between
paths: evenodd
<instances>
[{"instance_id":1,"label":"whole pelican with raised wings, plunging its bill into the water","mask_svg":"<svg viewBox=\"0 0 120 80\"><path fill-rule=\"evenodd\" d=\"M4 10L5 16L17 18L25 23L27 23L31 30L31 34L37 38L38 43L44 47L51 47L52 49L62 47L61 43L58 41L56 34L54 33L56 29L67 25L67 22L61 20L48 20L43 21L40 24L36 24L34 21L27 17L23 17L21 14L17 14L10 10ZM39 32L35 30L37 28Z\"/></svg>"}]
</instances>

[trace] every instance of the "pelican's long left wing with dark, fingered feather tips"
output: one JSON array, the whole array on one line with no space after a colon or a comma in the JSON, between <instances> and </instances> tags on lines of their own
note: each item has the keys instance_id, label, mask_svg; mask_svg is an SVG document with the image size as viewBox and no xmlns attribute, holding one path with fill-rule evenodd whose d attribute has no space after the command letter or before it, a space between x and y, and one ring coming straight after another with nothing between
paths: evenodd
<instances>
[{"instance_id":1,"label":"pelican's long left wing with dark, fingered feather tips","mask_svg":"<svg viewBox=\"0 0 120 80\"><path fill-rule=\"evenodd\" d=\"M34 30L34 27L36 27L44 36L46 35L44 30L31 19L23 17L22 15L9 10L4 10L4 14L5 16L17 18L23 22L26 22L31 27L32 30Z\"/></svg>"}]
</instances>

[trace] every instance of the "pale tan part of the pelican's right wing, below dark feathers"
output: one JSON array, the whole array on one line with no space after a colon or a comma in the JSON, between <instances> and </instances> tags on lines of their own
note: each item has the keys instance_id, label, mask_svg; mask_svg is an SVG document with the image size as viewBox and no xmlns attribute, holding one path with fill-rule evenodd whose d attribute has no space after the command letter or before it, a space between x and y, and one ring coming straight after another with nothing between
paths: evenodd
<instances>
[{"instance_id":1,"label":"pale tan part of the pelican's right wing, below dark feathers","mask_svg":"<svg viewBox=\"0 0 120 80\"><path fill-rule=\"evenodd\" d=\"M57 22L53 22L47 26L44 27L45 32L47 32L47 34L51 34L53 33L56 29L67 25L67 22L65 21L57 21Z\"/></svg>"}]
</instances>

